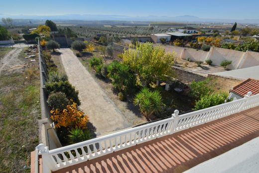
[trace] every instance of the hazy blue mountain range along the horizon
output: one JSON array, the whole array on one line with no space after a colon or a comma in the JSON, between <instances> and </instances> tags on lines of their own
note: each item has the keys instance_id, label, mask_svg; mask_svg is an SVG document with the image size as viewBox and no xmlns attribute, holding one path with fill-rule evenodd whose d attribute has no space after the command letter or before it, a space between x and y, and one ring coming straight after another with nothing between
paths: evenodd
<instances>
[{"instance_id":1,"label":"hazy blue mountain range along the horizon","mask_svg":"<svg viewBox=\"0 0 259 173\"><path fill-rule=\"evenodd\" d=\"M13 19L38 19L38 20L125 20L125 21L176 21L176 22L215 22L215 23L254 23L259 24L259 19L220 19L199 18L192 15L181 16L127 16L127 15L102 15L102 14L64 14L64 15L6 15L1 17L12 17Z\"/></svg>"}]
</instances>

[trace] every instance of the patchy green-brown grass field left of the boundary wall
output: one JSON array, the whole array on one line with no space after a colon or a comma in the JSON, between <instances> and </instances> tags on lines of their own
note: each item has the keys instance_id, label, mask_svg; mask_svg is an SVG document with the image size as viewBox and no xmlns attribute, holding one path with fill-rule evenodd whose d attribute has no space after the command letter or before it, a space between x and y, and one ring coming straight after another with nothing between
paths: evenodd
<instances>
[{"instance_id":1,"label":"patchy green-brown grass field left of the boundary wall","mask_svg":"<svg viewBox=\"0 0 259 173\"><path fill-rule=\"evenodd\" d=\"M29 173L30 152L39 141L38 62L19 59L27 64L22 71L2 72L0 76L1 173Z\"/></svg>"}]
</instances>

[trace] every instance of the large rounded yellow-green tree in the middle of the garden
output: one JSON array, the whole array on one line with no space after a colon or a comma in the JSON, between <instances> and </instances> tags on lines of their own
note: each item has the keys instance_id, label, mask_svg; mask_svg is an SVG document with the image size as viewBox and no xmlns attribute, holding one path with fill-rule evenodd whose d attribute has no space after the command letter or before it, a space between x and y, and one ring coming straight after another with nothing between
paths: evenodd
<instances>
[{"instance_id":1,"label":"large rounded yellow-green tree in the middle of the garden","mask_svg":"<svg viewBox=\"0 0 259 173\"><path fill-rule=\"evenodd\" d=\"M137 74L146 85L171 74L175 55L166 53L163 47L152 43L139 44L136 49L125 50L123 62ZM143 83L143 84L144 84Z\"/></svg>"}]
</instances>

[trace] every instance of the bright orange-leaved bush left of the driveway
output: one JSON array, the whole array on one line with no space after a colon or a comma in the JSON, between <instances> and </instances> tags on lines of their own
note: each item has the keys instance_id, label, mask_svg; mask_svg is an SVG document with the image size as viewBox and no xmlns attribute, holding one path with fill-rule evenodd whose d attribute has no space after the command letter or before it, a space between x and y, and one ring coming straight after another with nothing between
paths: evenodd
<instances>
[{"instance_id":1,"label":"bright orange-leaved bush left of the driveway","mask_svg":"<svg viewBox=\"0 0 259 173\"><path fill-rule=\"evenodd\" d=\"M89 118L85 113L77 109L77 104L67 105L63 111L51 110L51 119L56 123L57 128L60 127L71 127L71 128L82 128L86 129L86 123Z\"/></svg>"}]
</instances>

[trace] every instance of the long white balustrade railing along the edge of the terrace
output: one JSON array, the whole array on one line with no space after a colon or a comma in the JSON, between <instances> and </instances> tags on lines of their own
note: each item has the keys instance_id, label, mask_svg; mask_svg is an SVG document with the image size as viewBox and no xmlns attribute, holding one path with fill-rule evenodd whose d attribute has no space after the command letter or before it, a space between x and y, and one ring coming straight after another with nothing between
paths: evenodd
<instances>
[{"instance_id":1,"label":"long white balustrade railing along the edge of the terrace","mask_svg":"<svg viewBox=\"0 0 259 173\"><path fill-rule=\"evenodd\" d=\"M259 106L259 95L251 96L251 94L252 92L249 92L243 99L183 115L179 115L179 111L175 110L172 117L168 119L54 150L48 150L48 147L39 144L36 150L39 151L39 155L42 155L44 173L51 173L51 171L73 166L87 160L126 149L136 144L170 135Z\"/></svg>"}]
</instances>

